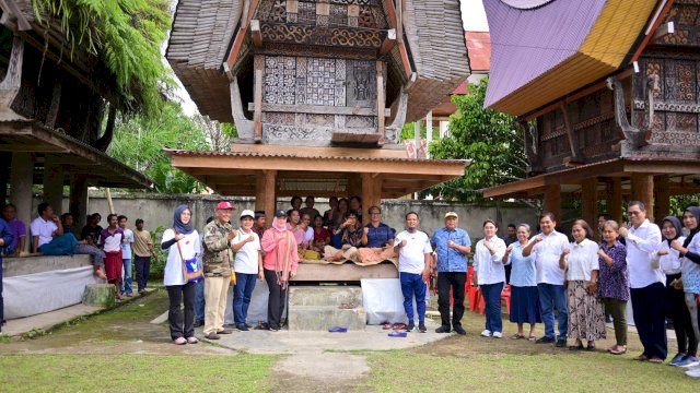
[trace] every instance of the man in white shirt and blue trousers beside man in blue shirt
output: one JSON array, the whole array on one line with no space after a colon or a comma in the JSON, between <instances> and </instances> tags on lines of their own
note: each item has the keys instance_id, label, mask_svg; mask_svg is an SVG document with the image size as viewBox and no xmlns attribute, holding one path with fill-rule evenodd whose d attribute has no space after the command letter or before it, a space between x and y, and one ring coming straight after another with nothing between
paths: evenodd
<instances>
[{"instance_id":1,"label":"man in white shirt and blue trousers beside man in blue shirt","mask_svg":"<svg viewBox=\"0 0 700 393\"><path fill-rule=\"evenodd\" d=\"M408 332L416 329L413 323L413 296L418 307L418 330L425 333L425 291L430 277L431 254L430 238L418 230L418 213L406 215L406 230L396 235L394 247L398 253L398 272L404 294L404 309L408 315Z\"/></svg>"}]
</instances>

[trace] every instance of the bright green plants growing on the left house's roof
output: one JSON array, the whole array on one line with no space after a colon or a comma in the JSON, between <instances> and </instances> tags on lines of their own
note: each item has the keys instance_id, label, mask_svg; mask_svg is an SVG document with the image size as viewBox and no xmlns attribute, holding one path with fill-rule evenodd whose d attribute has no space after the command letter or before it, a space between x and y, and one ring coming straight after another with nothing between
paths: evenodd
<instances>
[{"instance_id":1,"label":"bright green plants growing on the left house's roof","mask_svg":"<svg viewBox=\"0 0 700 393\"><path fill-rule=\"evenodd\" d=\"M71 58L80 52L98 58L114 80L118 109L160 112L160 86L174 85L161 56L172 23L168 0L34 0L33 5L40 23L60 25Z\"/></svg>"}]
</instances>

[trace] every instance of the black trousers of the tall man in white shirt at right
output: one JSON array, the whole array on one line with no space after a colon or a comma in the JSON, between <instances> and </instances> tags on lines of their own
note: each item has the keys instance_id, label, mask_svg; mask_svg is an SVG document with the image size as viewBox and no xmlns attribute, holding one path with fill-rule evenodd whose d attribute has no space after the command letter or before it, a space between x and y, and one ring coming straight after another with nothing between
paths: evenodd
<instances>
[{"instance_id":1,"label":"black trousers of the tall man in white shirt at right","mask_svg":"<svg viewBox=\"0 0 700 393\"><path fill-rule=\"evenodd\" d=\"M664 291L662 283L630 288L634 325L648 358L666 359L668 355Z\"/></svg>"}]
</instances>

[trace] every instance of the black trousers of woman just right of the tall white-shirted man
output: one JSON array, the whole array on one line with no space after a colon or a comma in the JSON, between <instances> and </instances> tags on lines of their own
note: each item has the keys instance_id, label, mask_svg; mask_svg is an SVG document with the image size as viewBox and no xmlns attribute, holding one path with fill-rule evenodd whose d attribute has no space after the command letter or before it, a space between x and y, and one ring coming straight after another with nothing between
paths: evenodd
<instances>
[{"instance_id":1,"label":"black trousers of woman just right of the tall white-shirted man","mask_svg":"<svg viewBox=\"0 0 700 393\"><path fill-rule=\"evenodd\" d=\"M680 273L666 275L666 317L674 322L676 341L678 342L678 353L696 356L698 353L698 341L696 340L696 333L692 329L690 311L688 311L688 306L686 306L686 294L682 289L676 289L669 285L676 278L680 278Z\"/></svg>"}]
</instances>

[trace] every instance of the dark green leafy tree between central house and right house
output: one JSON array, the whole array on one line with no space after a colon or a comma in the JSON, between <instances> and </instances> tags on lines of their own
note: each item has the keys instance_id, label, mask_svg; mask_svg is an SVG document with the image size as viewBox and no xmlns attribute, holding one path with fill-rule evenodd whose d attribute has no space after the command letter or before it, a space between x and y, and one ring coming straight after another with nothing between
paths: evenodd
<instances>
[{"instance_id":1,"label":"dark green leafy tree between central house and right house","mask_svg":"<svg viewBox=\"0 0 700 393\"><path fill-rule=\"evenodd\" d=\"M459 115L450 118L450 136L430 145L431 158L472 159L465 176L430 190L448 200L479 202L479 189L525 178L523 131L515 118L483 107L488 80L470 84L468 95L455 95Z\"/></svg>"}]
</instances>

